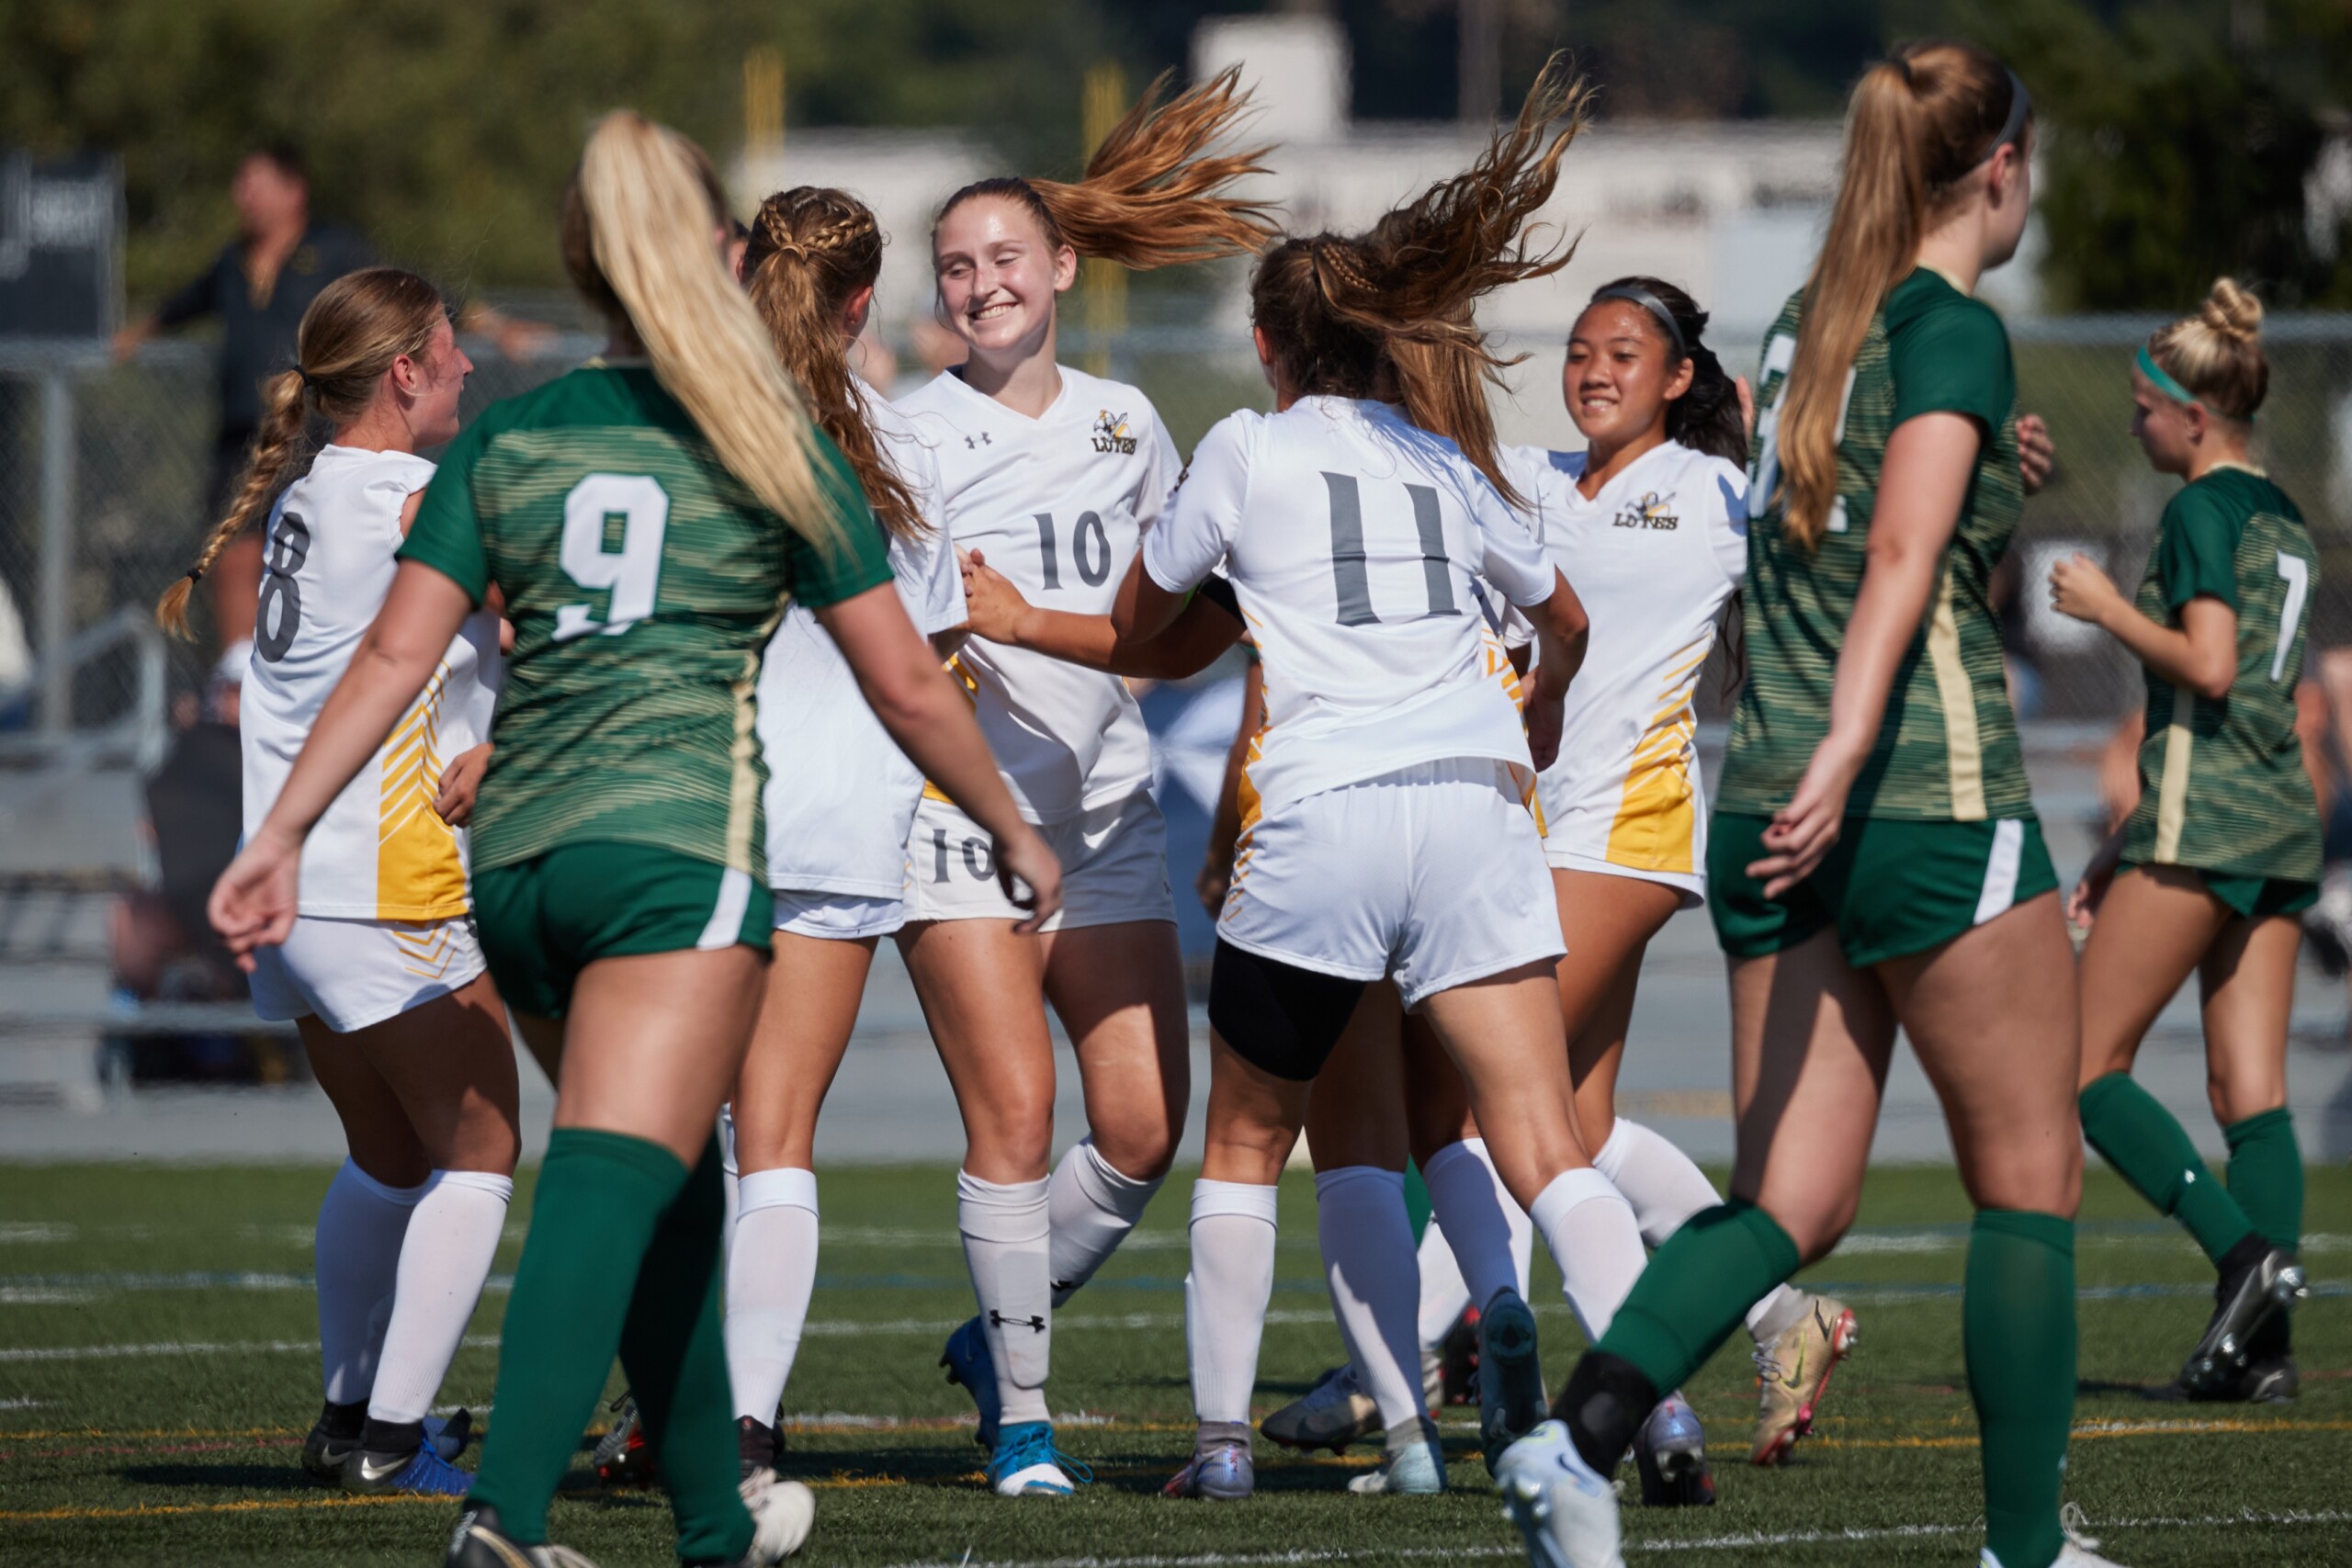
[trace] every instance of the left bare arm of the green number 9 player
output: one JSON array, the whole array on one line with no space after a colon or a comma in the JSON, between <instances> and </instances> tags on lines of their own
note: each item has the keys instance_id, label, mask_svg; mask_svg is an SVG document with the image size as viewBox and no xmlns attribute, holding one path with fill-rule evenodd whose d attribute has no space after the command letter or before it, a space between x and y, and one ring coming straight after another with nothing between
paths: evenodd
<instances>
[{"instance_id":1,"label":"left bare arm of the green number 9 player","mask_svg":"<svg viewBox=\"0 0 2352 1568\"><path fill-rule=\"evenodd\" d=\"M449 639L473 614L473 599L433 567L402 562L393 592L367 628L350 668L320 708L310 738L287 773L278 804L212 886L205 914L252 971L254 947L278 945L294 931L301 844L367 759L393 733L416 693L433 679Z\"/></svg>"}]
</instances>

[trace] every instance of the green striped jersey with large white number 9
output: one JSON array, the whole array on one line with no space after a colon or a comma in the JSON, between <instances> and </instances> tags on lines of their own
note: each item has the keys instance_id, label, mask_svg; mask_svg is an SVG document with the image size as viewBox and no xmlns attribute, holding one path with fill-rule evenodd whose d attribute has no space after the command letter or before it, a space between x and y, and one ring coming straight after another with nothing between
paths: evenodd
<instances>
[{"instance_id":1,"label":"green striped jersey with large white number 9","mask_svg":"<svg viewBox=\"0 0 2352 1568\"><path fill-rule=\"evenodd\" d=\"M515 623L473 865L614 839L767 872L760 651L788 597L891 581L856 477L823 454L854 517L835 559L727 473L642 364L508 397L449 444L400 557L475 602L496 585Z\"/></svg>"}]
</instances>

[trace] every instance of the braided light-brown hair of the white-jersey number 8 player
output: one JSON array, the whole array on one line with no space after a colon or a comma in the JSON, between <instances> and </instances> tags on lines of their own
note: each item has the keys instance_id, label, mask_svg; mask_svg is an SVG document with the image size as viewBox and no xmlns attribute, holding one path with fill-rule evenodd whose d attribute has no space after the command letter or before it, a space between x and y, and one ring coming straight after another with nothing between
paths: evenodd
<instances>
[{"instance_id":1,"label":"braided light-brown hair of the white-jersey number 8 player","mask_svg":"<svg viewBox=\"0 0 2352 1568\"><path fill-rule=\"evenodd\" d=\"M278 371L261 388L261 430L245 484L228 515L212 527L195 564L155 599L158 625L188 637L188 592L198 578L212 571L228 541L268 517L278 491L308 470L310 414L332 425L355 421L393 360L421 360L447 315L440 289L400 268L365 268L320 289L294 339L294 369Z\"/></svg>"}]
</instances>

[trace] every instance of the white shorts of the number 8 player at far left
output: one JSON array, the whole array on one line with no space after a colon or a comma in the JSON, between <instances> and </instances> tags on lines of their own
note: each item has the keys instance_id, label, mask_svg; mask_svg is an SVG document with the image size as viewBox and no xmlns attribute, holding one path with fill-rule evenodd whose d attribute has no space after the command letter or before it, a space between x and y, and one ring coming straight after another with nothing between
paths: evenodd
<instances>
[{"instance_id":1,"label":"white shorts of the number 8 player at far left","mask_svg":"<svg viewBox=\"0 0 2352 1568\"><path fill-rule=\"evenodd\" d=\"M303 914L285 947L254 950L254 1011L270 1023L315 1016L350 1034L447 997L482 969L470 914L428 922Z\"/></svg>"}]
</instances>

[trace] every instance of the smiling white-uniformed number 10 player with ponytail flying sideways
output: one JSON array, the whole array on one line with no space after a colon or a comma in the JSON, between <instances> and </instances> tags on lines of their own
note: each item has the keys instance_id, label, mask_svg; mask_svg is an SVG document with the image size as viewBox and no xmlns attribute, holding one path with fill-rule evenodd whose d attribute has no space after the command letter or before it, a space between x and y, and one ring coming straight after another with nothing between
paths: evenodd
<instances>
[{"instance_id":1,"label":"smiling white-uniformed number 10 player with ponytail flying sideways","mask_svg":"<svg viewBox=\"0 0 2352 1568\"><path fill-rule=\"evenodd\" d=\"M941 317L967 360L898 407L938 456L955 545L1054 609L1110 609L1178 480L1143 393L1056 364L1056 294L1082 254L1152 268L1256 249L1268 221L1225 195L1256 155L1204 153L1244 106L1232 73L1164 106L1155 89L1080 183L988 179L931 230ZM990 1486L1065 1495L1044 1403L1051 1314L1136 1225L1183 1131L1176 905L1124 682L981 639L955 668L1021 813L1063 860L1063 907L1018 933L988 835L927 792L898 943L964 1114L957 1227L981 1307L943 1363L981 1408ZM1070 1032L1091 1126L1058 1166L1044 1001Z\"/></svg>"}]
</instances>

